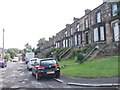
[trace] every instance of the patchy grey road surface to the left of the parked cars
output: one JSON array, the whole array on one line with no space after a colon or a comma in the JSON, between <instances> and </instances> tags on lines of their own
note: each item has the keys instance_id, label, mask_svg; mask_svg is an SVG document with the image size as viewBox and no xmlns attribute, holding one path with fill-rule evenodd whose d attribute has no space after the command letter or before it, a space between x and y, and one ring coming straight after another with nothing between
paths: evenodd
<instances>
[{"instance_id":1,"label":"patchy grey road surface to the left of the parked cars","mask_svg":"<svg viewBox=\"0 0 120 90\"><path fill-rule=\"evenodd\" d=\"M0 68L1 88L79 88L66 83L57 82L54 78L37 81L26 69L24 62L8 62L6 68Z\"/></svg>"}]
</instances>

